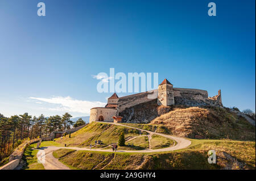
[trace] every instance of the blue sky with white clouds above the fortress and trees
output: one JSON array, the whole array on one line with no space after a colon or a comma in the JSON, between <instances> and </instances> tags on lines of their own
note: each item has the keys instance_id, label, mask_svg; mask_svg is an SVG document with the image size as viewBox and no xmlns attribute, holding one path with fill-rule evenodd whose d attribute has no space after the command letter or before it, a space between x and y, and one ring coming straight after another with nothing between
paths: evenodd
<instances>
[{"instance_id":1,"label":"blue sky with white clouds above the fortress and trees","mask_svg":"<svg viewBox=\"0 0 256 181\"><path fill-rule=\"evenodd\" d=\"M255 111L255 1L0 0L0 23L5 116L86 116L112 94L92 77L110 68L209 96L221 89L224 106Z\"/></svg>"}]
</instances>

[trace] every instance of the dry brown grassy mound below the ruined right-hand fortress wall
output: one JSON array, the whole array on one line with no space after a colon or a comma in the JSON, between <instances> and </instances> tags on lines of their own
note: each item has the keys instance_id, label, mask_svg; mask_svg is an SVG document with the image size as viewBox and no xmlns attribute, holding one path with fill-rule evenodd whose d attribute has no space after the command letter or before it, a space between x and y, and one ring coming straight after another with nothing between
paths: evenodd
<instances>
[{"instance_id":1,"label":"dry brown grassy mound below the ruined right-hand fortress wall","mask_svg":"<svg viewBox=\"0 0 256 181\"><path fill-rule=\"evenodd\" d=\"M175 108L152 120L150 124L162 125L170 134L188 138L255 141L255 127L228 108Z\"/></svg>"}]
</instances>

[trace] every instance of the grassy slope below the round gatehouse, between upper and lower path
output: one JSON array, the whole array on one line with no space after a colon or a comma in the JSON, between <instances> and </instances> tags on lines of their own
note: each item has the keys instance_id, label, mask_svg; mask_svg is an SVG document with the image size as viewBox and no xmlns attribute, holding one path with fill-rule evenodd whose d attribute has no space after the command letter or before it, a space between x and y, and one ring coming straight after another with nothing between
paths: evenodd
<instances>
[{"instance_id":1,"label":"grassy slope below the round gatehouse, between upper and lower path","mask_svg":"<svg viewBox=\"0 0 256 181\"><path fill-rule=\"evenodd\" d=\"M89 146L90 144L94 145L95 141L101 140L103 144L96 146L97 148L100 148L109 144L117 143L118 137L122 133L122 131L125 132L125 138L140 135L140 131L134 128L93 122L86 125L79 131L72 133L71 138L69 138L69 135L67 135L63 138L57 138L56 142L59 144L67 144L67 146L85 147ZM147 133L142 132L141 134Z\"/></svg>"}]
</instances>

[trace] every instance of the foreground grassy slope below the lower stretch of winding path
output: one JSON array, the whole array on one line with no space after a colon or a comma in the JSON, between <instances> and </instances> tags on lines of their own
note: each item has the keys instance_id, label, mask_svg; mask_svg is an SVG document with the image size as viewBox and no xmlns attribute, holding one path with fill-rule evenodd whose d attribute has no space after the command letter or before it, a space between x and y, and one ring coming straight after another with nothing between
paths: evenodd
<instances>
[{"instance_id":1,"label":"foreground grassy slope below the lower stretch of winding path","mask_svg":"<svg viewBox=\"0 0 256 181\"><path fill-rule=\"evenodd\" d=\"M53 155L71 169L255 169L255 142L191 141L192 145L187 149L166 153L109 153L60 149L54 151ZM216 150L217 164L208 163L207 153L211 149Z\"/></svg>"}]
</instances>

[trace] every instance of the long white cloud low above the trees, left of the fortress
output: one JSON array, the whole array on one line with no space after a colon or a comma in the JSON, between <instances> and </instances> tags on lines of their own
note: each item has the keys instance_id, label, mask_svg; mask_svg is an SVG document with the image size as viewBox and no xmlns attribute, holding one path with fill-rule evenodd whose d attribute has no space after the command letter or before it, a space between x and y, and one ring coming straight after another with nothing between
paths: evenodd
<instances>
[{"instance_id":1,"label":"long white cloud low above the trees, left of the fortress","mask_svg":"<svg viewBox=\"0 0 256 181\"><path fill-rule=\"evenodd\" d=\"M52 98L35 98L30 99L40 100L51 104L59 104L57 107L48 108L51 111L67 111L67 112L79 112L79 113L90 113L90 109L93 107L104 107L106 103L102 102L91 102L88 100L76 100L70 96L54 96Z\"/></svg>"}]
</instances>

